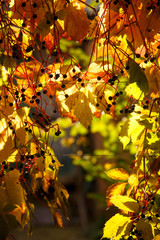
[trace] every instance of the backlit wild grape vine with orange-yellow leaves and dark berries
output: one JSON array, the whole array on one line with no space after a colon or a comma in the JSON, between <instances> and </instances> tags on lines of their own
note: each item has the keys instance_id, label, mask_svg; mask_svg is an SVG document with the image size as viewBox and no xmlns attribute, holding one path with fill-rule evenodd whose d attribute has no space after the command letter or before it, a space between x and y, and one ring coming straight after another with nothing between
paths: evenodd
<instances>
[{"instance_id":1,"label":"backlit wild grape vine with orange-yellow leaves and dark berries","mask_svg":"<svg viewBox=\"0 0 160 240\"><path fill-rule=\"evenodd\" d=\"M0 1L0 239L31 222L33 198L50 208L58 225L61 212L67 217L69 196L49 143L61 129L48 106L53 118L86 128L93 116L129 116L120 141L124 148L133 142L137 154L129 173L107 172L122 181L107 191L108 206L120 213L106 222L103 237L160 238L159 20L158 0ZM85 70L62 51L62 39L91 41ZM117 112L124 93L127 105Z\"/></svg>"}]
</instances>

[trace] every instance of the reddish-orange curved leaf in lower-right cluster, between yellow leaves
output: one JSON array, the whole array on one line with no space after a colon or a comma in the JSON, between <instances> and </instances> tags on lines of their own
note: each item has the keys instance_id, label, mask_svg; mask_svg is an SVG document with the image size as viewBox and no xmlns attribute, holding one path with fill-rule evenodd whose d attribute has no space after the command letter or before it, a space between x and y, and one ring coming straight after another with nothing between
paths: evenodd
<instances>
[{"instance_id":1,"label":"reddish-orange curved leaf in lower-right cluster, between yellow leaves","mask_svg":"<svg viewBox=\"0 0 160 240\"><path fill-rule=\"evenodd\" d=\"M109 186L106 193L108 207L111 207L113 205L110 198L115 195L122 195L124 193L124 189L126 185L127 183L115 183Z\"/></svg>"}]
</instances>

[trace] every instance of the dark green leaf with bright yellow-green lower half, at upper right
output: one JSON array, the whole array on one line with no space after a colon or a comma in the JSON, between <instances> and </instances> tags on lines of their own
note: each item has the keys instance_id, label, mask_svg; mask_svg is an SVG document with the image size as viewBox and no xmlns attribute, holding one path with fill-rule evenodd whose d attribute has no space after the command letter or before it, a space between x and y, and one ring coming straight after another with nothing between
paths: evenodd
<instances>
[{"instance_id":1,"label":"dark green leaf with bright yellow-green lower half, at upper right","mask_svg":"<svg viewBox=\"0 0 160 240\"><path fill-rule=\"evenodd\" d=\"M129 62L129 81L130 84L126 87L125 91L129 96L135 99L143 100L145 94L149 90L148 81L142 68L135 62Z\"/></svg>"}]
</instances>

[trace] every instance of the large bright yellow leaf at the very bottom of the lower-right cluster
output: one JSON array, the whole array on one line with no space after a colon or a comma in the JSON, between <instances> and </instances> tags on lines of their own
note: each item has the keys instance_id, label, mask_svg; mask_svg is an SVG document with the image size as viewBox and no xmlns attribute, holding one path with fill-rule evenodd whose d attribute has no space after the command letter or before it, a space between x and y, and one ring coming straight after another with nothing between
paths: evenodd
<instances>
[{"instance_id":1,"label":"large bright yellow leaf at the very bottom of the lower-right cluster","mask_svg":"<svg viewBox=\"0 0 160 240\"><path fill-rule=\"evenodd\" d=\"M105 223L102 238L120 239L130 223L130 217L117 213Z\"/></svg>"}]
</instances>

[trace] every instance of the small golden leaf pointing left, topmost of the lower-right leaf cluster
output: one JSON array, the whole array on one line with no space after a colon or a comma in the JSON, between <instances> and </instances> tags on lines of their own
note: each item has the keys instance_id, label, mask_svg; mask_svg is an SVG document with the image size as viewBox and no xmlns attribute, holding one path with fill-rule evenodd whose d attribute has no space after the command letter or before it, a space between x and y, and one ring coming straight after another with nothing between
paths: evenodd
<instances>
[{"instance_id":1,"label":"small golden leaf pointing left, topmost of the lower-right leaf cluster","mask_svg":"<svg viewBox=\"0 0 160 240\"><path fill-rule=\"evenodd\" d=\"M108 177L116 180L128 180L129 174L123 168L113 168L105 172Z\"/></svg>"}]
</instances>

